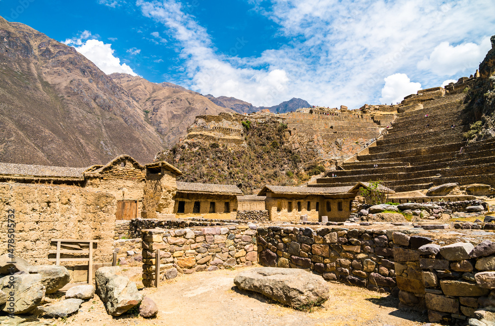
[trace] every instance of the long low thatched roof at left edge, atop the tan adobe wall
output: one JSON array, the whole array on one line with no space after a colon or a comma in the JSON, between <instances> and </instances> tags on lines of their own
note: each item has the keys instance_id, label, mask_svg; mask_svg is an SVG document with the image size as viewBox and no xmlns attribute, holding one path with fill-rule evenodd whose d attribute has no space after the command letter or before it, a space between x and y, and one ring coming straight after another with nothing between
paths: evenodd
<instances>
[{"instance_id":1,"label":"long low thatched roof at left edge, atop the tan adobe wall","mask_svg":"<svg viewBox=\"0 0 495 326\"><path fill-rule=\"evenodd\" d=\"M69 168L64 166L45 166L15 163L0 163L0 175L9 177L45 178L45 179L84 179L88 168Z\"/></svg>"}]
</instances>

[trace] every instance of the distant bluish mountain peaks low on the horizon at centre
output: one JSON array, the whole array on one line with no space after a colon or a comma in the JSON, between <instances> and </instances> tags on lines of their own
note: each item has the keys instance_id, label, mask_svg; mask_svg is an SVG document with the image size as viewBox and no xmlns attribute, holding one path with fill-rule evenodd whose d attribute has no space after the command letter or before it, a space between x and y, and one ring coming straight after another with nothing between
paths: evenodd
<instances>
[{"instance_id":1,"label":"distant bluish mountain peaks low on the horizon at centre","mask_svg":"<svg viewBox=\"0 0 495 326\"><path fill-rule=\"evenodd\" d=\"M223 106L223 107L228 107L238 113L252 113L252 112L258 112L264 109L270 110L270 112L273 113L287 113L291 111L296 111L297 109L301 107L309 107L309 103L301 98L296 98L293 97L292 99L282 102L278 105L274 106L253 106L251 103L248 103L246 101L237 99L235 97L227 97L227 96L218 96L215 97L211 94L205 95L209 100L211 100L213 103Z\"/></svg>"}]
</instances>

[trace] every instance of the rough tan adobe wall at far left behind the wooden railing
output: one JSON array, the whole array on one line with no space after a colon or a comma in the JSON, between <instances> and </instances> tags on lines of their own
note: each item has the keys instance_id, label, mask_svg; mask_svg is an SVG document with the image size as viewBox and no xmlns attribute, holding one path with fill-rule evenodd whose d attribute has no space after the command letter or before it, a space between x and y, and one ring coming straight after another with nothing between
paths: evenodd
<instances>
[{"instance_id":1,"label":"rough tan adobe wall at far left behind the wooden railing","mask_svg":"<svg viewBox=\"0 0 495 326\"><path fill-rule=\"evenodd\" d=\"M15 212L14 254L33 265L54 264L52 238L98 239L95 264L111 262L115 228L115 197L77 186L0 183L0 253L7 251L7 210ZM62 257L65 257L62 255ZM74 256L69 256L74 257ZM87 275L87 263L61 262L74 280L73 265ZM85 270L85 271L84 271ZM95 270L95 269L94 269Z\"/></svg>"}]
</instances>

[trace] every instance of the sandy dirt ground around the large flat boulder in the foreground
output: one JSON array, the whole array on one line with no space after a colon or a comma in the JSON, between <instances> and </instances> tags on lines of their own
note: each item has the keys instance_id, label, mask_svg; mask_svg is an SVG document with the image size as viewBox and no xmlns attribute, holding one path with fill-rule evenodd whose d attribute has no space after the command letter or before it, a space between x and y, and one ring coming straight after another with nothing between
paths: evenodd
<instances>
[{"instance_id":1,"label":"sandy dirt ground around the large flat boulder in the foreground","mask_svg":"<svg viewBox=\"0 0 495 326\"><path fill-rule=\"evenodd\" d=\"M158 306L153 319L131 314L113 318L95 296L84 302L76 315L59 320L41 318L40 322L52 326L417 326L428 322L425 312L398 310L398 299L387 294L336 282L330 284L330 299L323 306L309 312L296 311L260 294L239 290L233 279L241 270L179 275L163 281L158 288L141 289ZM138 280L138 273L141 267L130 267L123 274Z\"/></svg>"}]
</instances>

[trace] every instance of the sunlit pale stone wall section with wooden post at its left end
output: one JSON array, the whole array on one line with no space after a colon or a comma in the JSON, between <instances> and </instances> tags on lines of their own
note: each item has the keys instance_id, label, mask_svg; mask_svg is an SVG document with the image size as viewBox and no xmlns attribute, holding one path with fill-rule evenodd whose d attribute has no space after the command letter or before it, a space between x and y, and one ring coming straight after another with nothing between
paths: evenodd
<instances>
[{"instance_id":1,"label":"sunlit pale stone wall section with wooden post at its left end","mask_svg":"<svg viewBox=\"0 0 495 326\"><path fill-rule=\"evenodd\" d=\"M257 261L255 225L197 230L142 230L143 284L153 286L156 250L160 249L160 279Z\"/></svg>"}]
</instances>

